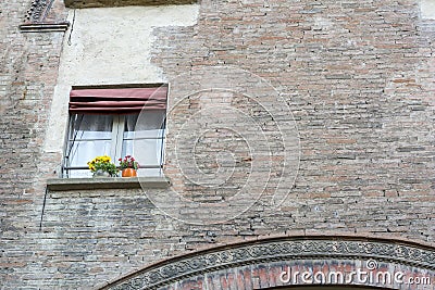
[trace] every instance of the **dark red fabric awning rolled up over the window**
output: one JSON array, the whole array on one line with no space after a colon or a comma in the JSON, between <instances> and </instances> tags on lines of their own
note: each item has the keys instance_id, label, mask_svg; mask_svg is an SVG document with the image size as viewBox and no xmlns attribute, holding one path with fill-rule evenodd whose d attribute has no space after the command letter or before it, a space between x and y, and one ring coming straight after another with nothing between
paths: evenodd
<instances>
[{"instance_id":1,"label":"dark red fabric awning rolled up over the window","mask_svg":"<svg viewBox=\"0 0 435 290\"><path fill-rule=\"evenodd\" d=\"M125 89L73 89L70 112L76 114L130 114L165 110L167 87Z\"/></svg>"}]
</instances>

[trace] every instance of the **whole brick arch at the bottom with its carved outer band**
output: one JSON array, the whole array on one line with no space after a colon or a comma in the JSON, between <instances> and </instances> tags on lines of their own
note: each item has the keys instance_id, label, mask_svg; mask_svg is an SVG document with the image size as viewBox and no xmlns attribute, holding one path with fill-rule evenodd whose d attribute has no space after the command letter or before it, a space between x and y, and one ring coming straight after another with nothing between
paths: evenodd
<instances>
[{"instance_id":1,"label":"whole brick arch at the bottom with its carved outer band","mask_svg":"<svg viewBox=\"0 0 435 290\"><path fill-rule=\"evenodd\" d=\"M169 259L101 289L241 290L319 285L435 289L435 248L362 237L282 237Z\"/></svg>"}]
</instances>

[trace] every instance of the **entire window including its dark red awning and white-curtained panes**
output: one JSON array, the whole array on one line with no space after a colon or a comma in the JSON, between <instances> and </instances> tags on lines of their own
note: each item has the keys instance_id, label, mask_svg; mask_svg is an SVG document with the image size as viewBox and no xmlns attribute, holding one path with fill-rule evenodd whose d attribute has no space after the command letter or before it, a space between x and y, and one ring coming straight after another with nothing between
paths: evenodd
<instances>
[{"instance_id":1,"label":"entire window including its dark red awning and white-curtained panes","mask_svg":"<svg viewBox=\"0 0 435 290\"><path fill-rule=\"evenodd\" d=\"M90 177L98 155L134 155L139 176L162 175L167 87L73 88L62 175Z\"/></svg>"}]
</instances>

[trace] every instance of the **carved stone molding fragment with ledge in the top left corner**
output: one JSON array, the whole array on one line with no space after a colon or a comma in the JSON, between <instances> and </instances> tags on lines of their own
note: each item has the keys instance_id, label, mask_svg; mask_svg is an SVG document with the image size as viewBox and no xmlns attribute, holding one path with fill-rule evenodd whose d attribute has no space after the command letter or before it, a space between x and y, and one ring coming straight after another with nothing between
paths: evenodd
<instances>
[{"instance_id":1,"label":"carved stone molding fragment with ledge in the top left corner","mask_svg":"<svg viewBox=\"0 0 435 290\"><path fill-rule=\"evenodd\" d=\"M23 33L65 31L69 22L47 21L55 0L33 0L27 10L25 23L20 25Z\"/></svg>"}]
</instances>

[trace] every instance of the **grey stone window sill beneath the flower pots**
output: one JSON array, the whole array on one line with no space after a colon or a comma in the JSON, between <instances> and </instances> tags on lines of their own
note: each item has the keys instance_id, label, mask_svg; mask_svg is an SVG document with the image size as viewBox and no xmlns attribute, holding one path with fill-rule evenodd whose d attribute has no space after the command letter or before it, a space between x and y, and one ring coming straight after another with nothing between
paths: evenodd
<instances>
[{"instance_id":1,"label":"grey stone window sill beneath the flower pots","mask_svg":"<svg viewBox=\"0 0 435 290\"><path fill-rule=\"evenodd\" d=\"M166 188L169 186L170 181L165 177L52 178L47 180L47 188L52 191Z\"/></svg>"}]
</instances>

